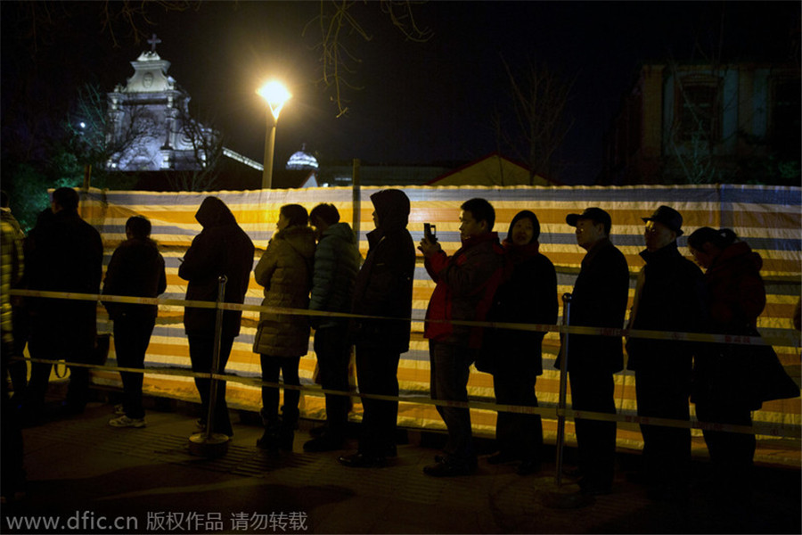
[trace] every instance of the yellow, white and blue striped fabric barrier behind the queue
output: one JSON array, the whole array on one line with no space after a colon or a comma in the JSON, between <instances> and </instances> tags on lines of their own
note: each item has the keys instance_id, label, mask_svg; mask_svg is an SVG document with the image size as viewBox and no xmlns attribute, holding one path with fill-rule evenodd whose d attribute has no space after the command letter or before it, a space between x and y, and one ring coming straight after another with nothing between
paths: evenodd
<instances>
[{"instance_id":1,"label":"yellow, white and blue striped fabric barrier behind the queue","mask_svg":"<svg viewBox=\"0 0 802 535\"><path fill-rule=\"evenodd\" d=\"M194 220L194 213L204 197L214 194L233 211L242 228L250 235L257 247L254 265L273 235L278 210L282 204L299 203L311 210L319 202L332 202L340 210L341 220L358 226L360 251L367 252L365 234L372 229L372 203L370 195L381 188L362 188L360 202L353 202L350 188L310 188L303 190L267 190L253 192L216 193L151 193L151 192L102 192L90 190L83 194L82 215L102 234L106 248L106 263L111 252L125 238L125 222L128 217L140 214L151 219L152 237L160 243L168 269L168 290L163 296L181 300L185 294L185 282L177 276L179 258L192 243L201 226ZM764 337L780 338L786 342L775 345L783 365L799 382L798 333L793 330L791 317L799 299L799 276L802 273L800 259L800 201L802 188L752 185L715 186L634 186L634 187L537 187L517 186L506 188L489 187L405 187L412 201L410 232L413 239L422 237L423 223L434 223L438 227L438 238L447 252L459 247L459 206L471 197L484 197L493 203L496 210L495 230L505 234L511 218L520 210L534 211L541 222L541 251L552 259L558 270L558 292L570 292L576 279L579 264L585 251L581 250L573 235L573 228L565 224L565 216L579 212L587 206L599 206L610 212L613 219L611 239L625 254L632 275L630 299L634 292L634 277L642 267L638 252L642 251L642 217L648 216L660 204L667 204L683 214L685 235L699 226L731 226L764 259L763 274L766 282L767 305L758 320L758 328ZM356 206L356 210L355 210ZM356 225L354 214L358 215ZM689 255L685 236L679 240L683 254ZM418 259L413 288L413 327L411 350L402 356L398 370L402 397L425 397L429 394L430 369L428 344L422 338L422 322L434 284L430 281ZM251 280L246 304L258 305L262 289ZM182 324L183 309L176 305L160 307L160 316L151 338L147 366L178 367L188 369L189 351ZM241 335L236 339L232 356L226 368L229 374L242 377L260 375L258 355L251 351L256 333L258 314L245 312ZM622 325L623 326L623 325ZM99 313L99 328L110 332L110 324L104 312ZM538 399L544 406L556 405L559 391L559 374L553 368L559 349L557 333L548 333L544 340L544 375L537 381ZM113 348L110 358L114 358ZM110 362L113 364L113 361ZM300 374L303 383L314 383L315 356L312 341L309 353L301 359ZM119 374L97 372L96 383L119 385ZM471 399L493 400L492 377L473 373L469 383ZM232 384L228 399L232 407L256 409L260 398L258 389L246 385ZM197 393L190 378L169 378L145 375L145 390L159 395L180 399L197 400ZM616 377L618 412L635 414L634 374L622 372ZM323 400L305 395L302 410L308 417L321 418L324 414ZM361 407L355 405L354 417L361 415ZM757 423L800 424L800 400L786 399L766 403L755 414ZM442 429L443 424L434 407L413 403L402 403L399 423L421 428ZM473 424L479 434L492 434L495 429L495 412L477 410L473 412ZM544 432L554 434L556 422L546 420ZM569 425L569 432L572 428ZM639 448L640 433L636 427L619 425L619 444Z\"/></svg>"}]
</instances>

